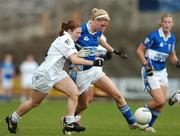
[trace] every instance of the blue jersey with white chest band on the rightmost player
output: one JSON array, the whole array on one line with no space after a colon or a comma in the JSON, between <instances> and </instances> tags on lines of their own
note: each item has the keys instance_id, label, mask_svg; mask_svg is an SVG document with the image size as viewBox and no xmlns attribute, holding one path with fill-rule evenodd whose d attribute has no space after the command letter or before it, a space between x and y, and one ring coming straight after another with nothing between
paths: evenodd
<instances>
[{"instance_id":1,"label":"blue jersey with white chest band on the rightmost player","mask_svg":"<svg viewBox=\"0 0 180 136\"><path fill-rule=\"evenodd\" d=\"M144 40L146 47L145 58L153 66L154 70L162 70L166 67L166 58L175 51L175 36L169 32L164 36L162 28L150 33Z\"/></svg>"}]
</instances>

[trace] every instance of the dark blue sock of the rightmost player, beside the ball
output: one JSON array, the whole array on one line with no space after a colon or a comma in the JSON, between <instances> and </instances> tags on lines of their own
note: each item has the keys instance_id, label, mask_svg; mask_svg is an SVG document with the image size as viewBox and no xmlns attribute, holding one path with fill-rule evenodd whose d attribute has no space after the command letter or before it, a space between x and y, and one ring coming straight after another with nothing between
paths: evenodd
<instances>
[{"instance_id":1,"label":"dark blue sock of the rightmost player, beside the ball","mask_svg":"<svg viewBox=\"0 0 180 136\"><path fill-rule=\"evenodd\" d=\"M157 119L158 116L160 115L160 112L157 111L157 110L151 109L151 108L148 106L148 104L145 104L144 107L148 108L148 109L151 111L151 113L152 113L152 119L151 119L151 121L149 122L149 127L152 127L153 124L155 123L156 119Z\"/></svg>"}]
</instances>

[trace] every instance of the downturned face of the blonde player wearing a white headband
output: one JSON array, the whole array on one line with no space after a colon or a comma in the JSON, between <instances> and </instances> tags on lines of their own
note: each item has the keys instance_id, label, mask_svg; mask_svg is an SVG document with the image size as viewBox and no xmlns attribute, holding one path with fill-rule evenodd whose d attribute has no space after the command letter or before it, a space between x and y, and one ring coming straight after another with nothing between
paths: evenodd
<instances>
[{"instance_id":1,"label":"downturned face of the blonde player wearing a white headband","mask_svg":"<svg viewBox=\"0 0 180 136\"><path fill-rule=\"evenodd\" d=\"M105 29L108 25L109 25L109 22L105 21L105 20L95 20L94 21L95 31L105 31Z\"/></svg>"}]
</instances>

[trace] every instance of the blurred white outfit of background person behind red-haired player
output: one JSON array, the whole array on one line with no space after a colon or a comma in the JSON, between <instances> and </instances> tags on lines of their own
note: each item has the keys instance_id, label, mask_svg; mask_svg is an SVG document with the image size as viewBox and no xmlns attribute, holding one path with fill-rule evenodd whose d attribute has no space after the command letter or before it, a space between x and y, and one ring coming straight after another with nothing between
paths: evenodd
<instances>
[{"instance_id":1,"label":"blurred white outfit of background person behind red-haired player","mask_svg":"<svg viewBox=\"0 0 180 136\"><path fill-rule=\"evenodd\" d=\"M37 67L38 63L36 61L24 61L20 65L21 86L23 88L31 88L32 77Z\"/></svg>"}]
</instances>

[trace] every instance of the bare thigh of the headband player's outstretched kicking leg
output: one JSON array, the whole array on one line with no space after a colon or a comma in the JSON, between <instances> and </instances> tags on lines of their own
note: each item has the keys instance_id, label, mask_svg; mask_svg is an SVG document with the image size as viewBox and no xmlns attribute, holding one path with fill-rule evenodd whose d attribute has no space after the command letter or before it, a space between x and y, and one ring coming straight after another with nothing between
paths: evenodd
<instances>
[{"instance_id":1,"label":"bare thigh of the headband player's outstretched kicking leg","mask_svg":"<svg viewBox=\"0 0 180 136\"><path fill-rule=\"evenodd\" d=\"M95 85L113 97L122 96L118 88L107 75L103 75L98 81L96 81Z\"/></svg>"}]
</instances>

